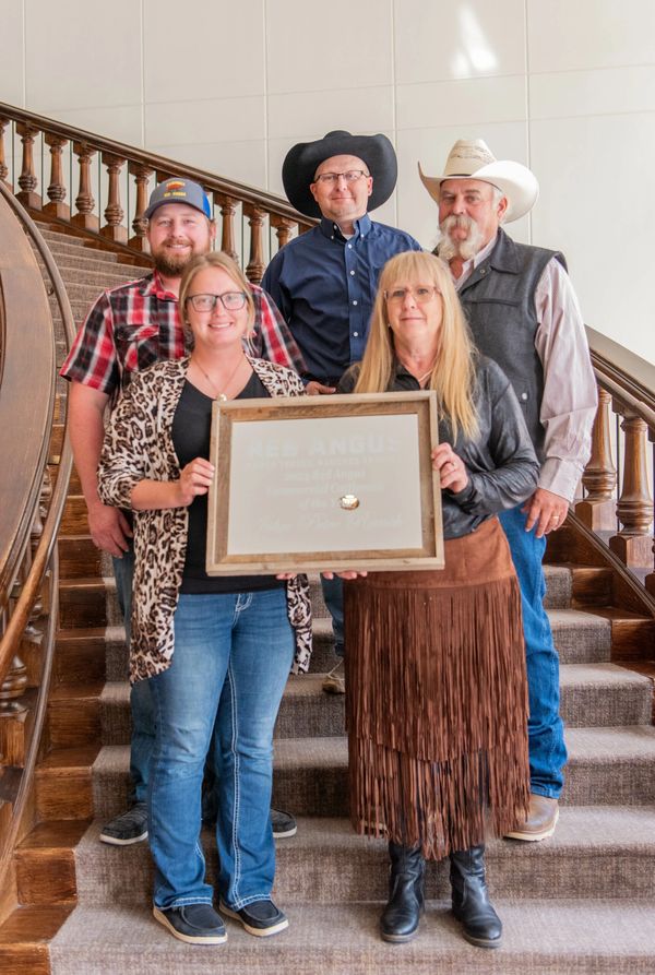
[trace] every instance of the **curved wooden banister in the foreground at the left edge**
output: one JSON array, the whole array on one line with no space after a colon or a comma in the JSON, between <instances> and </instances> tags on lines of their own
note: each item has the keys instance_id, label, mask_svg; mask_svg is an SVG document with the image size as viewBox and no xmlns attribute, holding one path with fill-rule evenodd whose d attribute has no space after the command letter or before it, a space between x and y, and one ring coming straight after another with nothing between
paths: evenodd
<instances>
[{"instance_id":1,"label":"curved wooden banister in the foreground at the left edge","mask_svg":"<svg viewBox=\"0 0 655 975\"><path fill-rule=\"evenodd\" d=\"M34 222L25 213L21 204L13 198L4 185L0 182L0 227L1 237L5 245L13 243L14 260L16 250L24 249L25 234L31 238L40 260L46 266L46 273L50 280L52 293L59 306L61 319L64 324L67 345L70 345L75 334L75 326L59 275L59 271L52 261L50 252L43 240ZM23 239L21 239L23 238ZM7 251L4 251L7 253ZM34 271L40 283L40 272L36 260L29 253L34 263ZM0 255L1 260L1 255ZM16 399L15 404L7 403L7 391L10 383L8 378L12 370L21 368L25 376L34 381L33 385L26 385L23 396L38 399L40 396L47 406L41 406L48 417L48 423L40 431L40 440L36 438L36 449L32 452L33 471L26 472L26 477L32 480L31 489L23 498L14 497L17 509L13 514L4 511L3 527L11 537L2 538L3 561L0 566L0 578L3 588L0 592L2 607L2 627L0 630L0 741L4 742L5 756L0 757L0 800L7 808L11 808L9 821L4 820L4 829L0 835L0 890L7 890L5 884L8 869L11 864L16 841L21 832L28 828L29 823L24 818L29 817L29 796L33 789L33 774L37 758L43 748L41 736L45 728L45 717L48 704L48 690L52 668L55 649L55 635L58 626L58 559L57 534L66 503L68 485L72 469L72 452L68 436L64 437L61 455L58 459L57 480L51 488L49 483L48 447L50 440L50 419L56 388L56 369L53 347L50 356L44 356L44 364L49 366L49 374L37 364L21 360L22 340L26 340L24 333L19 336L11 335L12 314L15 310L13 304L8 302L11 293L9 276L15 276L19 272L15 267L5 269L0 264L0 286L2 288L2 372L0 376L0 404L3 405L3 428L9 437L21 437L21 427L17 420L21 409L24 409L24 399ZM34 283L35 277L31 281ZM43 290L43 285L41 285ZM45 297L45 295L44 295ZM33 300L34 295L27 295L27 310L34 312L33 322L35 331L41 341L50 342L53 346L53 326L47 300L40 304ZM13 298L12 298L13 301ZM40 316L40 318L39 318ZM11 337L10 337L11 335ZM17 338L17 341L16 341ZM25 343L26 344L26 343ZM27 369L25 366L27 365ZM44 384L39 390L37 382ZM13 397L12 397L13 399ZM12 419L13 417L13 419ZM7 457L3 457L7 461ZM52 460L52 459L50 459ZM21 472L10 472L10 476L17 476ZM23 472L25 473L25 472ZM9 497L3 499L9 506ZM47 506L45 519L41 519L41 507ZM46 611L45 629L39 632L35 622ZM40 625L40 623L39 623ZM36 678L37 688L29 692L27 704L24 703L26 690L26 670L22 664L20 653L25 641L35 641L38 644L40 657L39 674ZM14 693L15 691L15 693ZM31 721L24 720L25 712L31 712ZM7 748L7 742L12 748ZM0 747L0 751L2 751Z\"/></svg>"}]
</instances>

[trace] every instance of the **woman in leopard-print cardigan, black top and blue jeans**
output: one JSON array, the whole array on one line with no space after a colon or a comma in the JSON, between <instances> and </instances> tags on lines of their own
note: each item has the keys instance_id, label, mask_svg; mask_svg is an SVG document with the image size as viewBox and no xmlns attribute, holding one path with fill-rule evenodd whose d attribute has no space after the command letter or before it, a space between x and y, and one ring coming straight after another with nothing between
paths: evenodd
<instances>
[{"instance_id":1,"label":"woman in leopard-print cardigan, black top and blue jeans","mask_svg":"<svg viewBox=\"0 0 655 975\"><path fill-rule=\"evenodd\" d=\"M191 356L134 377L107 429L98 491L135 512L130 675L151 681L156 714L154 915L182 941L218 943L227 936L199 842L205 756L213 734L222 909L250 934L275 934L288 922L271 901L273 727L289 669L309 666L311 613L302 575L206 575L212 403L305 390L243 352L252 299L224 254L188 266L180 309Z\"/></svg>"}]
</instances>

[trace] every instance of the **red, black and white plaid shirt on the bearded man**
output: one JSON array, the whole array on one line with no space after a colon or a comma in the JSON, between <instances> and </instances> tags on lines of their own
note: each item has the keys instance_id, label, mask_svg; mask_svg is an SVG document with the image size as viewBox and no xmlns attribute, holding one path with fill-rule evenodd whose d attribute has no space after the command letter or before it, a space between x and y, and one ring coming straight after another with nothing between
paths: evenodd
<instances>
[{"instance_id":1,"label":"red, black and white plaid shirt on the bearded man","mask_svg":"<svg viewBox=\"0 0 655 975\"><path fill-rule=\"evenodd\" d=\"M250 286L254 298L254 356L296 372L305 362L286 322L269 295ZM61 367L60 376L107 393L116 404L133 372L184 355L177 297L157 272L103 292Z\"/></svg>"}]
</instances>

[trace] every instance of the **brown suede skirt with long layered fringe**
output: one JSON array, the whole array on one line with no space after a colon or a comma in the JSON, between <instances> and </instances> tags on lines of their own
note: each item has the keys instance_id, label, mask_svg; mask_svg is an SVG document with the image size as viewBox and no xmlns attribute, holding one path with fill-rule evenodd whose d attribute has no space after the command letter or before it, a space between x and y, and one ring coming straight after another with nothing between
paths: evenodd
<instances>
[{"instance_id":1,"label":"brown suede skirt with long layered fringe","mask_svg":"<svg viewBox=\"0 0 655 975\"><path fill-rule=\"evenodd\" d=\"M502 835L529 794L521 595L497 519L445 542L443 571L345 585L355 830L429 859Z\"/></svg>"}]
</instances>

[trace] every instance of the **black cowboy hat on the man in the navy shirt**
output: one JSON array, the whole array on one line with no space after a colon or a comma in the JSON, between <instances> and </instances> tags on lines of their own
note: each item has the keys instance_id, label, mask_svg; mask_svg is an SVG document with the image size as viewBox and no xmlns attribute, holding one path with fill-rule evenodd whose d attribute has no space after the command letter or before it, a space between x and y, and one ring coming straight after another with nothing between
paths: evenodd
<instances>
[{"instance_id":1,"label":"black cowboy hat on the man in the navy shirt","mask_svg":"<svg viewBox=\"0 0 655 975\"><path fill-rule=\"evenodd\" d=\"M315 142L299 142L282 164L282 181L291 206L306 216L321 216L309 185L321 163L331 156L357 156L373 177L368 209L382 206L393 193L398 175L395 151L386 135L352 135L337 130Z\"/></svg>"}]
</instances>

